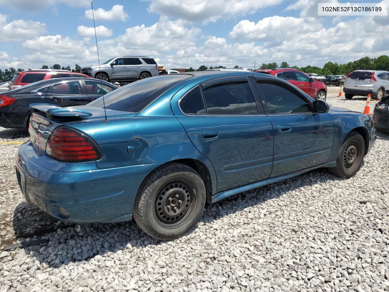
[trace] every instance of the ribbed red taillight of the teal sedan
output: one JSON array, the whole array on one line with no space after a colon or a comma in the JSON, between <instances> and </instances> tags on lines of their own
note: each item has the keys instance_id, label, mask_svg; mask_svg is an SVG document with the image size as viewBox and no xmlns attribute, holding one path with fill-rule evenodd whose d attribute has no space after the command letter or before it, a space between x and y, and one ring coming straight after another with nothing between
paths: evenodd
<instances>
[{"instance_id":1,"label":"ribbed red taillight of the teal sedan","mask_svg":"<svg viewBox=\"0 0 389 292\"><path fill-rule=\"evenodd\" d=\"M101 158L96 143L82 132L68 127L58 127L51 133L46 155L63 162L88 162Z\"/></svg>"}]
</instances>

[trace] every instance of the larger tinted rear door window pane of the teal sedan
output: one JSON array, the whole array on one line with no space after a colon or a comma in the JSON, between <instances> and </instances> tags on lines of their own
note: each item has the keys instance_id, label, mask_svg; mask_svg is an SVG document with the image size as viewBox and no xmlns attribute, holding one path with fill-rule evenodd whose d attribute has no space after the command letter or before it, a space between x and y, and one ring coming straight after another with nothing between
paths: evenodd
<instances>
[{"instance_id":1,"label":"larger tinted rear door window pane of the teal sedan","mask_svg":"<svg viewBox=\"0 0 389 292\"><path fill-rule=\"evenodd\" d=\"M208 114L258 114L258 107L247 81L219 83L203 90Z\"/></svg>"}]
</instances>

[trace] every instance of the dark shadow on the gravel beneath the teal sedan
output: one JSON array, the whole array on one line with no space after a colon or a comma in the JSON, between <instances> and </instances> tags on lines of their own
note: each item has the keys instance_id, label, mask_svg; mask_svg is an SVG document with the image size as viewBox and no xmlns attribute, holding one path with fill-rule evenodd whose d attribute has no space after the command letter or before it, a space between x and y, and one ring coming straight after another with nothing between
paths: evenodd
<instances>
[{"instance_id":1,"label":"dark shadow on the gravel beneath the teal sedan","mask_svg":"<svg viewBox=\"0 0 389 292\"><path fill-rule=\"evenodd\" d=\"M330 174L323 175L324 171L310 171L294 178L233 195L214 204L207 204L199 222L212 222L251 206L276 199L284 193L298 188L329 180L340 180L340 178ZM20 241L23 241L23 238L49 239L49 242L44 246L28 246L25 249L26 253L30 253L39 262L47 263L51 267L89 260L96 255L117 252L126 248L145 248L148 245L166 243L147 235L136 225L134 220L120 223L77 225L56 220L27 202L19 204L15 209L13 227L15 236ZM177 240L190 241L190 234L197 227L198 225L193 227L186 236Z\"/></svg>"}]
</instances>

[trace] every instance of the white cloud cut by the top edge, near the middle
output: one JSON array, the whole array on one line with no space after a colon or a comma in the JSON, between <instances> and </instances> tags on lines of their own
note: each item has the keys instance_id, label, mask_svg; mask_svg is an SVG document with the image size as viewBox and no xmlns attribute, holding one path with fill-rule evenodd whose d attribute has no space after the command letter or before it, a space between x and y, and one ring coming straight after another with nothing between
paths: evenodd
<instances>
[{"instance_id":1,"label":"white cloud cut by the top edge, near the middle","mask_svg":"<svg viewBox=\"0 0 389 292\"><path fill-rule=\"evenodd\" d=\"M144 0L149 11L189 21L217 21L237 15L253 14L284 0Z\"/></svg>"}]
</instances>

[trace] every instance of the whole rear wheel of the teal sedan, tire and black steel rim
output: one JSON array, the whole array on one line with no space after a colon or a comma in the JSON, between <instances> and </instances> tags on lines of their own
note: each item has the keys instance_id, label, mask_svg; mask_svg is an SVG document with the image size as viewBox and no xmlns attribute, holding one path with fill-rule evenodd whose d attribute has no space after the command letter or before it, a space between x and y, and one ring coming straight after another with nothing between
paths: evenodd
<instances>
[{"instance_id":1,"label":"whole rear wheel of the teal sedan, tire and black steel rim","mask_svg":"<svg viewBox=\"0 0 389 292\"><path fill-rule=\"evenodd\" d=\"M150 236L170 240L186 234L198 222L204 206L202 178L187 165L171 163L152 172L140 187L133 217Z\"/></svg>"}]
</instances>

